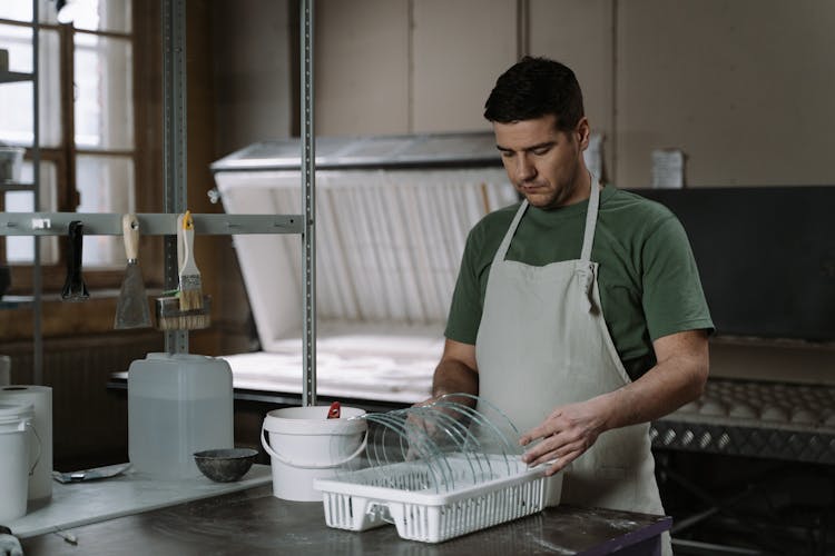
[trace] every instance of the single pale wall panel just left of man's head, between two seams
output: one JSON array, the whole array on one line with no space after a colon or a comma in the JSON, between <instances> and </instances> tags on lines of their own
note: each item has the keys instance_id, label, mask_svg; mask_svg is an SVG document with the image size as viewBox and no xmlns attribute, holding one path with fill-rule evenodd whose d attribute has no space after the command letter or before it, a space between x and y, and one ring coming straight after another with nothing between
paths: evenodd
<instances>
[{"instance_id":1,"label":"single pale wall panel just left of man's head, between two seams","mask_svg":"<svg viewBox=\"0 0 835 556\"><path fill-rule=\"evenodd\" d=\"M415 0L413 131L489 129L484 101L515 59L515 0Z\"/></svg>"}]
</instances>

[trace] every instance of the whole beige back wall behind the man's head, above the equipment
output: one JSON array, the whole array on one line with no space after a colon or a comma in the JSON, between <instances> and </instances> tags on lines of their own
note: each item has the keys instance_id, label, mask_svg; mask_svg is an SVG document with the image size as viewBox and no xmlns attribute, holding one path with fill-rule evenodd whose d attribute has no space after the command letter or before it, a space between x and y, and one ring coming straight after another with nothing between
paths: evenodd
<instances>
[{"instance_id":1,"label":"whole beige back wall behind the man's head, above the equipment","mask_svg":"<svg viewBox=\"0 0 835 556\"><path fill-rule=\"evenodd\" d=\"M287 0L216 10L223 151L288 135ZM527 50L574 69L619 186L647 185L665 147L692 187L835 182L835 2L318 0L315 18L318 135L489 129L490 88Z\"/></svg>"}]
</instances>

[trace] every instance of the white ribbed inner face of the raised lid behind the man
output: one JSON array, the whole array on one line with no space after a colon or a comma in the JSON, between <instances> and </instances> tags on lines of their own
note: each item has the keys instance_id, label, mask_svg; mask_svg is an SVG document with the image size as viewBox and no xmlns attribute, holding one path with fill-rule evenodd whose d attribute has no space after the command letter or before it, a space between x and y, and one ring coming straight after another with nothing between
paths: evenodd
<instances>
[{"instance_id":1,"label":"white ribbed inner face of the raised lid behind the man","mask_svg":"<svg viewBox=\"0 0 835 556\"><path fill-rule=\"evenodd\" d=\"M228 214L295 214L295 171L215 175ZM435 325L446 319L466 231L512 202L501 168L320 170L318 322ZM489 206L488 200L494 202ZM297 237L240 235L235 246L262 346L301 337Z\"/></svg>"}]
</instances>

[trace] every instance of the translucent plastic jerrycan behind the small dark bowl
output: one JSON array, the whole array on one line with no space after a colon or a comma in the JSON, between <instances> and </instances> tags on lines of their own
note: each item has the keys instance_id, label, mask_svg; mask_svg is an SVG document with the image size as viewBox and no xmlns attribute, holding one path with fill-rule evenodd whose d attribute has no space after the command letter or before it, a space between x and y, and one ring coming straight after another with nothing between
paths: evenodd
<instances>
[{"instance_id":1,"label":"translucent plastic jerrycan behind the small dark bowl","mask_svg":"<svg viewBox=\"0 0 835 556\"><path fill-rule=\"evenodd\" d=\"M128 455L161 479L200 476L194 453L234 447L232 370L224 359L148 354L128 370Z\"/></svg>"}]
</instances>

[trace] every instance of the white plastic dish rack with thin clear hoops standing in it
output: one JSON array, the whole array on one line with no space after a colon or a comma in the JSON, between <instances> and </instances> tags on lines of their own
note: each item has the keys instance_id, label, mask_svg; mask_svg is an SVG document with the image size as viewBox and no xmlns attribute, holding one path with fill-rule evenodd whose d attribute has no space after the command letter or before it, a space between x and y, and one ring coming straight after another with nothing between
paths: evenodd
<instances>
[{"instance_id":1,"label":"white plastic dish rack with thin clear hoops standing in it","mask_svg":"<svg viewBox=\"0 0 835 556\"><path fill-rule=\"evenodd\" d=\"M361 418L364 460L314 480L330 527L393 523L402 538L440 543L548 503L544 468L522 463L515 426L483 398L456 394Z\"/></svg>"}]
</instances>

